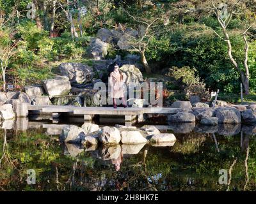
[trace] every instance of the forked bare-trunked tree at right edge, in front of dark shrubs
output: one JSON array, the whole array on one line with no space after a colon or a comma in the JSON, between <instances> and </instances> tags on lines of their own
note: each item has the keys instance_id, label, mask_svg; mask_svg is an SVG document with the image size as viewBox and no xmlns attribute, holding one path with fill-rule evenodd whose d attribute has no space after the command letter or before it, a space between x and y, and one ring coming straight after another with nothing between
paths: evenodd
<instances>
[{"instance_id":1,"label":"forked bare-trunked tree at right edge, in front of dark shrubs","mask_svg":"<svg viewBox=\"0 0 256 204\"><path fill-rule=\"evenodd\" d=\"M249 94L249 77L250 77L250 73L249 73L249 68L248 68L248 50L249 50L249 44L248 44L248 40L246 39L246 36L248 34L248 31L252 28L252 26L255 24L255 22L252 22L250 25L248 25L248 27L246 27L246 29L244 29L242 36L243 36L243 40L244 40L244 62L243 62L243 68L245 69L245 71L239 67L239 63L236 61L236 59L234 59L234 56L232 54L232 44L230 42L230 37L228 34L228 30L227 27L230 24L230 21L232 20L232 17L234 15L234 13L237 13L236 8L239 4L240 0L238 0L233 6L232 6L232 10L230 11L229 15L225 15L227 14L227 4L219 4L219 6L216 6L214 4L214 1L212 1L212 6L213 6L213 11L216 15L216 18L218 20L218 23L221 26L224 38L222 38L216 31L214 31L214 33L216 33L223 41L225 41L228 45L228 57L230 59L230 61L232 62L232 64L234 64L235 68L237 69L237 71L239 71L240 77L241 77L241 82L244 85L244 90L245 90L245 94ZM224 10L224 11L223 11ZM253 19L255 20L255 19Z\"/></svg>"}]
</instances>

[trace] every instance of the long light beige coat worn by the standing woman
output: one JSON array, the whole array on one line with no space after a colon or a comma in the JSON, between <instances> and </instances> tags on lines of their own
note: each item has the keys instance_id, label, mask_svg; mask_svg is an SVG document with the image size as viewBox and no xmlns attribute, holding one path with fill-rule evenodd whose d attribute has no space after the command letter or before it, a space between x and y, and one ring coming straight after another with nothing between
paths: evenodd
<instances>
[{"instance_id":1,"label":"long light beige coat worn by the standing woman","mask_svg":"<svg viewBox=\"0 0 256 204\"><path fill-rule=\"evenodd\" d=\"M124 97L123 85L126 80L126 75L122 73L123 80L121 80L121 75L116 71L112 71L109 77L110 85L110 97L111 98L122 98Z\"/></svg>"}]
</instances>

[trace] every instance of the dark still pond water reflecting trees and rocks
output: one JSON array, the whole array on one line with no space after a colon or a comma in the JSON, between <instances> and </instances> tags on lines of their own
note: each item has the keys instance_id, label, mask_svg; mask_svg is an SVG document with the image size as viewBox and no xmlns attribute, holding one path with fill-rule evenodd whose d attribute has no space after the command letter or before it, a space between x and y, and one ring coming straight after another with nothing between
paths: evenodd
<instances>
[{"instance_id":1,"label":"dark still pond water reflecting trees and rocks","mask_svg":"<svg viewBox=\"0 0 256 204\"><path fill-rule=\"evenodd\" d=\"M256 190L255 127L158 125L175 134L172 146L63 145L60 123L0 129L0 191Z\"/></svg>"}]
</instances>

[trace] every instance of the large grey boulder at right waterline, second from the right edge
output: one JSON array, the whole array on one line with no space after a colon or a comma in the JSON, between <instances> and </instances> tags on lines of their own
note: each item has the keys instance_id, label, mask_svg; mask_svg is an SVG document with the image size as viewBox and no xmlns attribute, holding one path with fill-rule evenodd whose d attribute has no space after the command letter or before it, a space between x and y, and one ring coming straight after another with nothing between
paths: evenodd
<instances>
[{"instance_id":1,"label":"large grey boulder at right waterline, second from the right edge","mask_svg":"<svg viewBox=\"0 0 256 204\"><path fill-rule=\"evenodd\" d=\"M238 124L241 123L241 113L236 108L220 107L214 110L218 123Z\"/></svg>"}]
</instances>

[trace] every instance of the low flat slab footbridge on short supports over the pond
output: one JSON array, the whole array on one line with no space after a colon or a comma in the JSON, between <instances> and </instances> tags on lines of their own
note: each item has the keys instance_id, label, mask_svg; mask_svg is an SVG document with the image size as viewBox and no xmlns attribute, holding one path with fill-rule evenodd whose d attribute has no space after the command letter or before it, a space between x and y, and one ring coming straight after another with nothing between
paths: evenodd
<instances>
[{"instance_id":1,"label":"low flat slab footbridge on short supports over the pond","mask_svg":"<svg viewBox=\"0 0 256 204\"><path fill-rule=\"evenodd\" d=\"M143 122L143 114L173 114L177 112L178 108L113 108L113 107L78 107L78 106L37 106L28 105L29 114L47 114L52 115L52 119L59 117L61 113L68 113L72 116L83 116L84 121L91 121L95 115L102 117L122 117L124 116L125 124L129 122Z\"/></svg>"}]
</instances>

